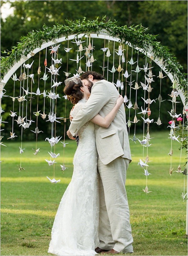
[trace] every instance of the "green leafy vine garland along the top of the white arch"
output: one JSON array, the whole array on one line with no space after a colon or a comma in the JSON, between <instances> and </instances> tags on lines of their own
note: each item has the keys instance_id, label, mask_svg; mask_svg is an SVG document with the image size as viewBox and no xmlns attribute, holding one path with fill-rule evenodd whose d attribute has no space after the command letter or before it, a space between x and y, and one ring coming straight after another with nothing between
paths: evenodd
<instances>
[{"instance_id":1,"label":"green leafy vine garland along the top of the white arch","mask_svg":"<svg viewBox=\"0 0 188 256\"><path fill-rule=\"evenodd\" d=\"M133 47L142 48L145 51L149 46L153 47L154 55L160 59L165 60L167 72L171 72L178 80L179 88L183 89L185 97L187 99L187 80L186 74L182 73L182 66L177 61L177 58L173 56L169 49L162 46L156 41L155 35L147 34L147 28L144 28L142 24L133 25L127 27L126 25L119 27L116 25L116 21L103 22L105 17L101 21L96 20L89 21L84 18L82 21L70 21L66 20L68 25L62 25L56 23L53 27L47 27L45 24L39 31L32 31L27 36L22 36L17 46L12 47L12 51L6 51L8 56L1 57L1 78L6 74L8 69L13 66L15 60L19 61L23 55L27 56L35 48L40 47L43 42L48 42L62 36L68 37L72 34L90 34L97 33L101 30L107 31L108 35L118 37L122 42L130 42Z\"/></svg>"}]
</instances>

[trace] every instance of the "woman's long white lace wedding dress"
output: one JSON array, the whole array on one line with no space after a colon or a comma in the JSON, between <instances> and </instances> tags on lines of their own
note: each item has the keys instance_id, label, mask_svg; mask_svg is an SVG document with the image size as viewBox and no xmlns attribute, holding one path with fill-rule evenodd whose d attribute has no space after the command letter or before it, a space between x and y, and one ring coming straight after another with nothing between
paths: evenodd
<instances>
[{"instance_id":1,"label":"woman's long white lace wedding dress","mask_svg":"<svg viewBox=\"0 0 188 256\"><path fill-rule=\"evenodd\" d=\"M73 117L86 100L81 99L71 112ZM57 210L48 252L56 255L95 255L98 239L98 184L95 125L87 122L78 131L79 144L74 171Z\"/></svg>"}]
</instances>

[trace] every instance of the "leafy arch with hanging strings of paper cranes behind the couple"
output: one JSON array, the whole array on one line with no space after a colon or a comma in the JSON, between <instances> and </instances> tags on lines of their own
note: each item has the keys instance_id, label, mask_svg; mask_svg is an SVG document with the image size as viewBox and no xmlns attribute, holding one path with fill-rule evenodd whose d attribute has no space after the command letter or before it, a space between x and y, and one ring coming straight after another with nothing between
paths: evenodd
<instances>
[{"instance_id":1,"label":"leafy arch with hanging strings of paper cranes behind the couple","mask_svg":"<svg viewBox=\"0 0 188 256\"><path fill-rule=\"evenodd\" d=\"M6 139L20 140L18 170L22 171L23 138L36 139L34 155L40 152L39 137L45 139L50 144L50 152L47 151L44 161L52 166L53 179L47 178L52 183L60 182L55 179L55 164L60 164L62 171L66 169L66 163L64 160L59 163L58 156L64 155L68 147L65 131L72 107L63 94L64 80L94 70L114 83L124 97L130 140L140 143L138 168L146 176L143 191L152 192L148 189L151 130L160 128L163 123L169 128L169 173L183 174L182 199L185 200L187 164L182 168L186 159L181 163L181 155L183 148L187 150L188 105L187 81L180 72L182 67L154 35L146 34L141 25L118 27L111 21L104 23L98 19L67 22L68 26L57 24L49 28L44 25L43 30L29 33L2 58L1 146L6 147ZM164 100L169 109L163 108ZM154 119L152 112L156 115L156 111L158 116ZM162 120L164 112L166 118ZM3 124L5 120L8 124ZM137 127L142 127L142 138L136 135ZM57 143L62 143L62 152L55 152ZM177 167L172 163L174 147L180 147Z\"/></svg>"}]
</instances>

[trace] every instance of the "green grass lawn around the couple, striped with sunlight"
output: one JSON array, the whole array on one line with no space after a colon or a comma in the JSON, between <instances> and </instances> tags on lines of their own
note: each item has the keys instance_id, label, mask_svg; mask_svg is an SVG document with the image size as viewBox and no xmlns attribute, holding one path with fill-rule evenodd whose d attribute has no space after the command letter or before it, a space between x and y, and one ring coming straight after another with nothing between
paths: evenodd
<instances>
[{"instance_id":1,"label":"green grass lawn around the couple, striped with sunlight","mask_svg":"<svg viewBox=\"0 0 188 256\"><path fill-rule=\"evenodd\" d=\"M126 189L131 216L134 253L131 255L187 255L187 236L185 235L186 200L183 202L184 175L172 173L170 168L170 139L168 132L150 133L152 146L148 148L149 173L148 188L144 169L138 166L142 159L143 147L139 142L130 141L132 163L127 172ZM141 136L141 135L137 135ZM50 144L38 141L40 152L33 153L35 142L23 142L22 167L19 172L20 143L4 142L1 147L1 255L52 255L47 253L53 220L66 187L73 166L72 159L76 150L75 141L66 141L65 166L63 173L63 147L56 145L60 153L55 165L55 179L60 183L51 184L46 178L53 178L54 169L44 159L50 159ZM176 148L175 148L176 147ZM177 170L180 162L180 143L173 141L173 164ZM145 154L146 156L146 148ZM182 153L181 168L185 163ZM187 176L186 176L187 178ZM185 179L186 183L186 179ZM103 254L105 255L105 254ZM121 254L125 255L125 254ZM126 254L129 255L129 254Z\"/></svg>"}]
</instances>

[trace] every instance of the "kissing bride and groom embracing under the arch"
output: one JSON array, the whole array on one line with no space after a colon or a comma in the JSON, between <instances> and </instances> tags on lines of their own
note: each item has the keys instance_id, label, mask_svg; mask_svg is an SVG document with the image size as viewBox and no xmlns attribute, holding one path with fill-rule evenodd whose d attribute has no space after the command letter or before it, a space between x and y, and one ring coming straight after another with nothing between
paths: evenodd
<instances>
[{"instance_id":1,"label":"kissing bride and groom embracing under the arch","mask_svg":"<svg viewBox=\"0 0 188 256\"><path fill-rule=\"evenodd\" d=\"M125 189L131 162L123 97L97 72L65 80L75 104L67 135L79 136L74 171L57 210L49 253L96 255L132 253Z\"/></svg>"}]
</instances>

